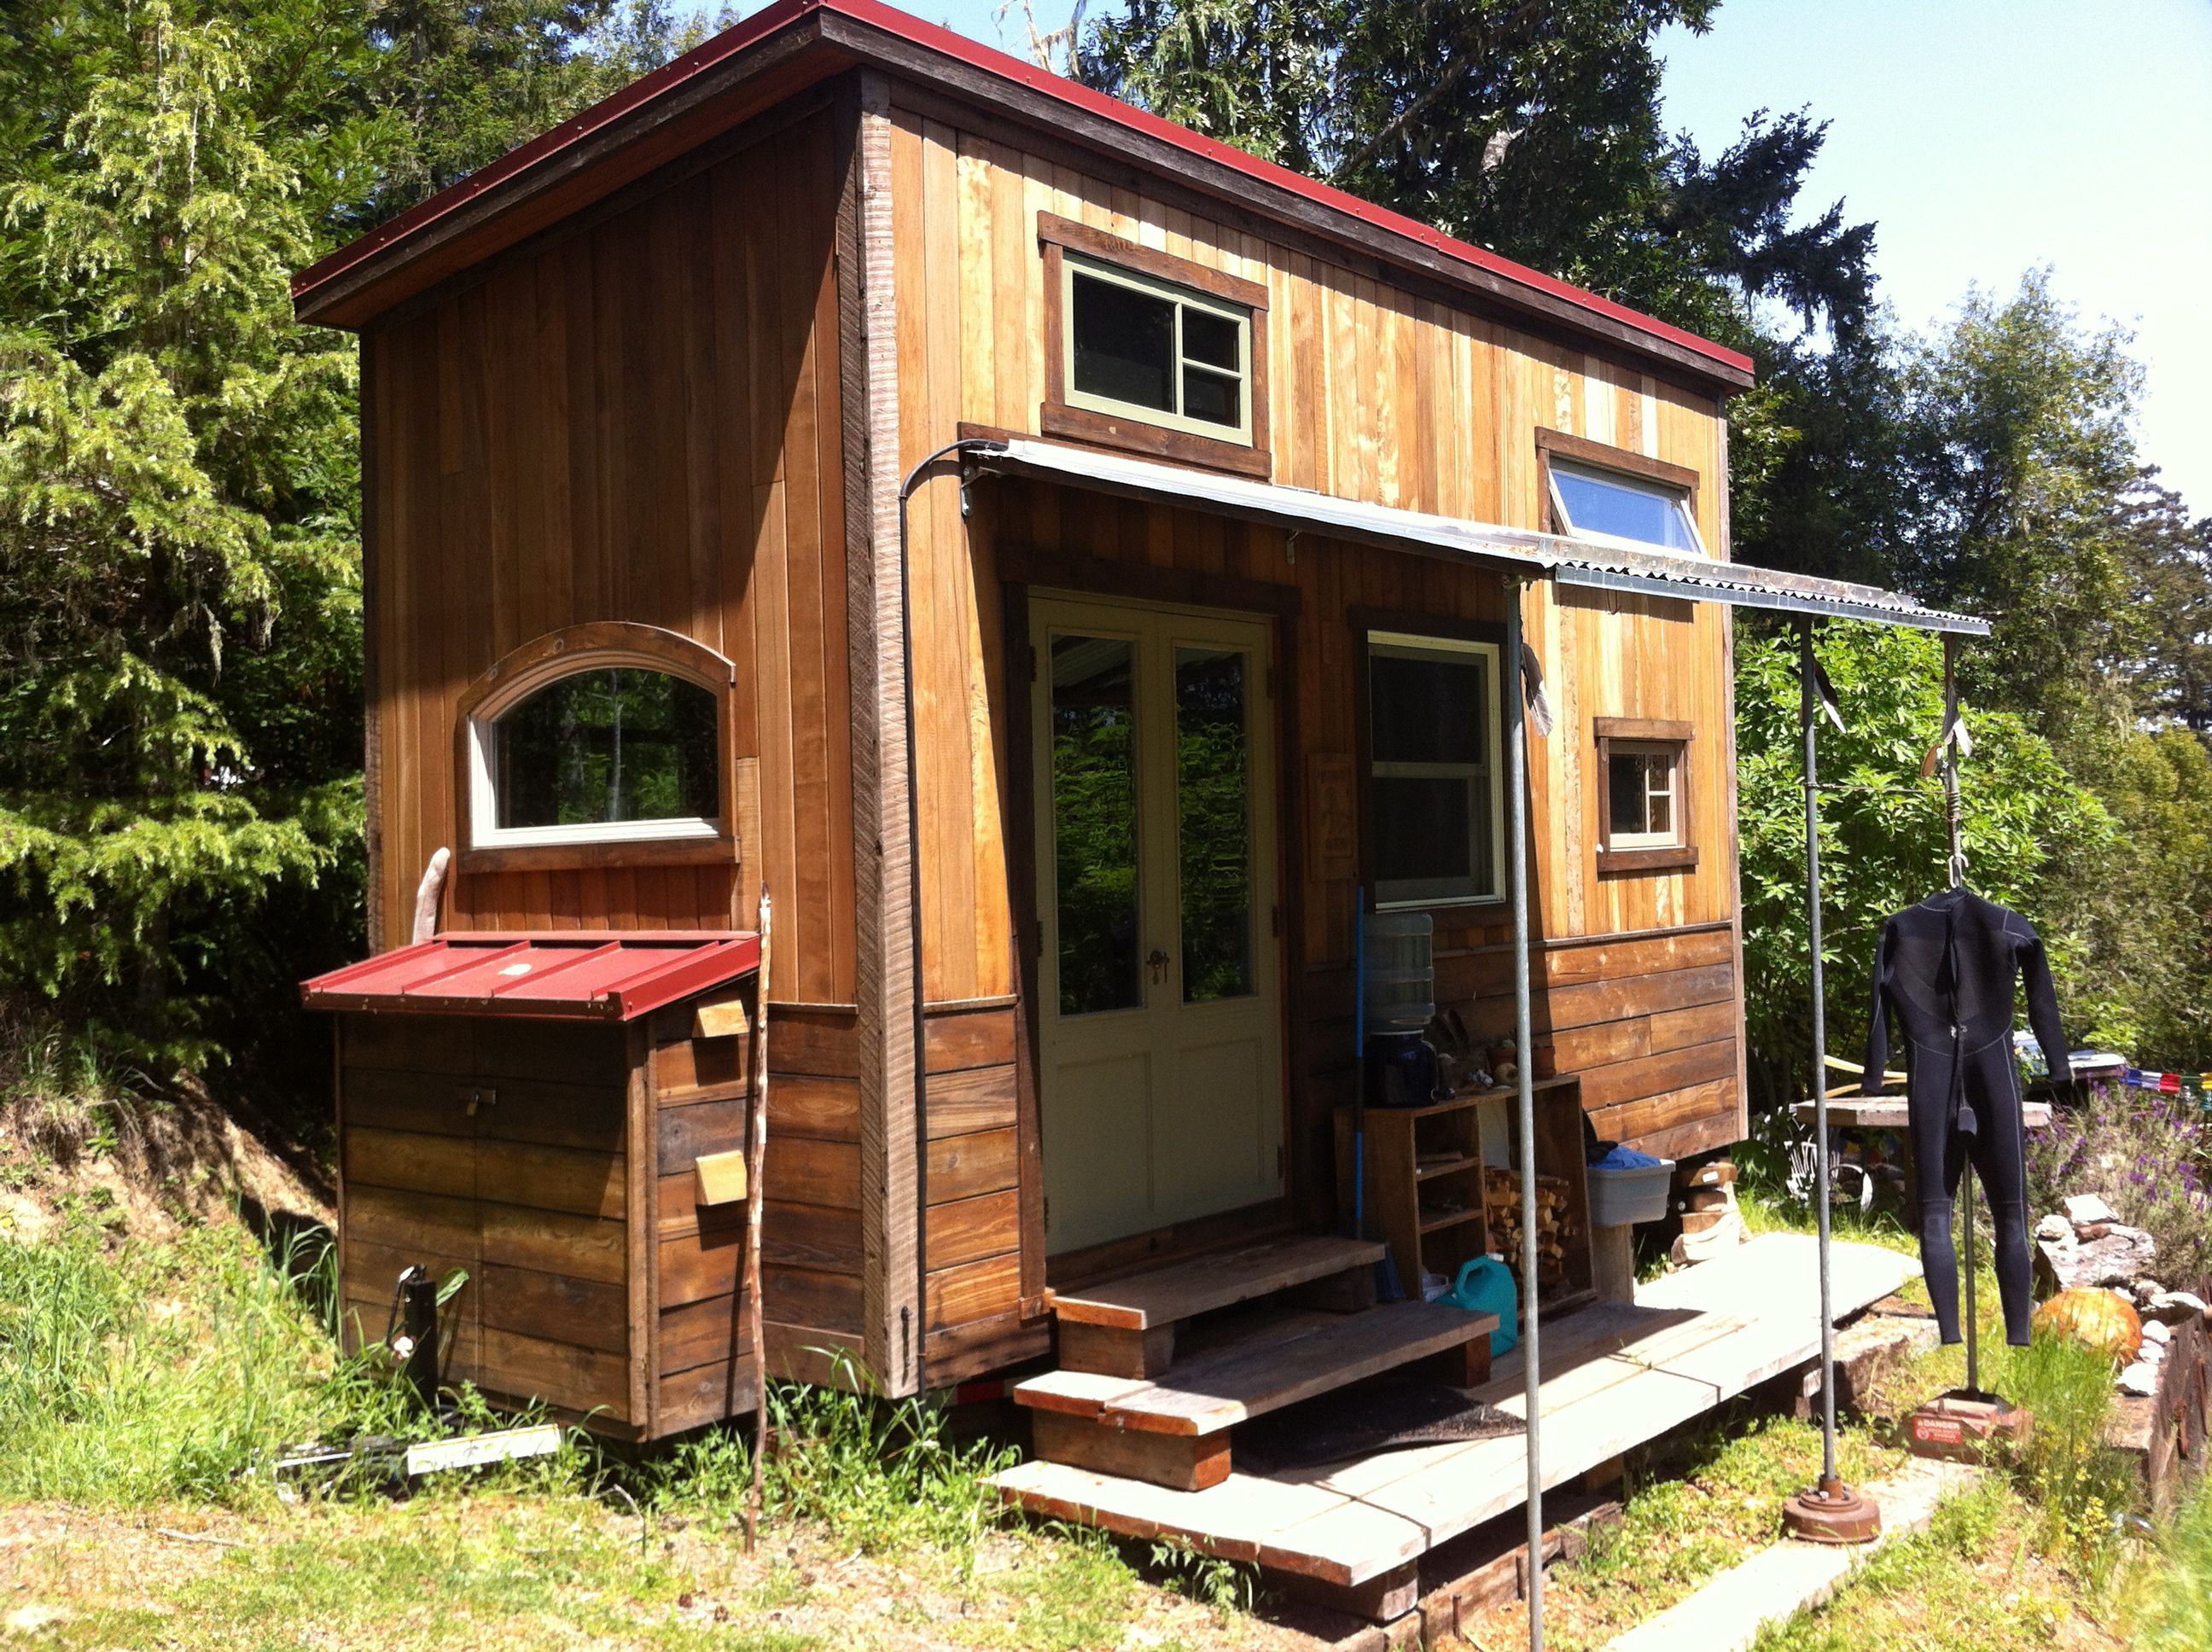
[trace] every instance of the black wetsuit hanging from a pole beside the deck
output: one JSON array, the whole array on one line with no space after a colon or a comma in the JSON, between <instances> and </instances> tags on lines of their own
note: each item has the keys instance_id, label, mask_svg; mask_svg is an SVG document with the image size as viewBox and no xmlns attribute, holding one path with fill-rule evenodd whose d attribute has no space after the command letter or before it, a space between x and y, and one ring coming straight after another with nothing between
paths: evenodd
<instances>
[{"instance_id":1,"label":"black wetsuit hanging from a pole beside the deck","mask_svg":"<svg viewBox=\"0 0 2212 1652\"><path fill-rule=\"evenodd\" d=\"M1865 1095L1882 1092L1889 1022L1905 1037L1907 1117L1920 1181L1920 1263L1944 1342L1958 1342L1958 1256L1951 1201L1971 1161L1997 1232L1997 1294L2004 1340L2028 1340L2028 1207L2020 1126L2020 1066L2013 1057L2013 980L2028 986L2028 1026L2051 1075L2068 1079L2051 962L2035 929L1969 889L1947 889L1907 907L1874 953L1874 1020L1867 1026Z\"/></svg>"}]
</instances>

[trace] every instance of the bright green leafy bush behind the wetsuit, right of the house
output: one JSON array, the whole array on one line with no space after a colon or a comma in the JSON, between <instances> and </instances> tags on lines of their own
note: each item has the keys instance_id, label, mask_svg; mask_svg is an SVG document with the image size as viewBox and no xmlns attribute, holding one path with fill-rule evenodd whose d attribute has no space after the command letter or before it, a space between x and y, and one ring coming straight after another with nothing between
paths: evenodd
<instances>
[{"instance_id":1,"label":"bright green leafy bush behind the wetsuit, right of the house","mask_svg":"<svg viewBox=\"0 0 2212 1652\"><path fill-rule=\"evenodd\" d=\"M1920 778L1942 725L1942 644L1924 632L1836 621L1818 637L1845 730L1820 725L1820 893L1827 1044L1856 1055L1871 1004L1882 920L1942 887L1944 803ZM2112 838L2104 807L2020 717L1966 708L1973 756L1960 765L1962 838L1978 891L2037 922L2068 1004L2081 953L2048 913L2062 874L2093 867ZM1745 1020L1754 1088L1805 1095L1809 947L1805 792L1794 637L1736 632L1736 787L1743 865ZM2068 1026L2077 1024L2068 1015Z\"/></svg>"}]
</instances>

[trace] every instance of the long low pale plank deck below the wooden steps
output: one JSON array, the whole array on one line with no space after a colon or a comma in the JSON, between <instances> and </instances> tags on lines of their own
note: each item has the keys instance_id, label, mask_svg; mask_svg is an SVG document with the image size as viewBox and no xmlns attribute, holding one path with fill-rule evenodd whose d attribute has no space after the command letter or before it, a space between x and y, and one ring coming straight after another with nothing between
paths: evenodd
<instances>
[{"instance_id":1,"label":"long low pale plank deck below the wooden steps","mask_svg":"<svg viewBox=\"0 0 2212 1652\"><path fill-rule=\"evenodd\" d=\"M1843 1318L1918 1274L1874 1245L1834 1247ZM1818 1356L1814 1245L1767 1234L1637 1294L1544 1329L1542 1464L1557 1486L1655 1440L1770 1376ZM1475 1395L1522 1413L1511 1353ZM1208 1491L1166 1491L1068 1464L1024 1462L998 1475L1024 1508L1130 1537L1194 1548L1338 1588L1369 1586L1429 1548L1524 1502L1524 1442L1473 1440L1281 1475L1230 1473Z\"/></svg>"}]
</instances>

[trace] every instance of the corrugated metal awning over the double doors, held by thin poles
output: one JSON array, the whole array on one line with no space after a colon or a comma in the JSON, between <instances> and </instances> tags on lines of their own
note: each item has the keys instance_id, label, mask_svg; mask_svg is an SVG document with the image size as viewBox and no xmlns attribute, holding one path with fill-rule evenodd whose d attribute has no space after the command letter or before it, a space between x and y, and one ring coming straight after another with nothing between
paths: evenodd
<instances>
[{"instance_id":1,"label":"corrugated metal awning over the double doors, held by thin poles","mask_svg":"<svg viewBox=\"0 0 2212 1652\"><path fill-rule=\"evenodd\" d=\"M1898 590L1858 586L1845 579L1814 579L1677 551L1621 551L1557 533L1400 511L1389 504L1360 504L1303 487L1155 464L1064 442L1040 442L1029 436L967 442L962 451L969 471L1073 482L1121 498L1267 522L1292 533L1323 533L1332 540L1411 548L1427 555L1517 564L1568 586L1674 597L1677 602L1725 602L1739 608L1776 608L1794 615L1874 619L1885 626L1951 630L1966 637L1989 635L1986 619L1922 608Z\"/></svg>"}]
</instances>

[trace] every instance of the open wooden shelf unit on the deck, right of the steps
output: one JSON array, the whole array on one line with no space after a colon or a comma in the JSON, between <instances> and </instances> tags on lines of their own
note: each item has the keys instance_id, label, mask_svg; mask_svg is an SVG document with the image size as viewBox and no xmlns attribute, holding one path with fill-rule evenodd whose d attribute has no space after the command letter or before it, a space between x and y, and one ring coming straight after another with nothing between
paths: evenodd
<instances>
[{"instance_id":1,"label":"open wooden shelf unit on the deck, right of the steps","mask_svg":"<svg viewBox=\"0 0 2212 1652\"><path fill-rule=\"evenodd\" d=\"M1590 1201L1577 1079L1537 1079L1535 1128L1537 1174L1559 1177L1568 1188L1573 1234L1564 1245L1564 1280L1540 1296L1546 1309L1564 1309L1590 1300ZM1400 1289L1416 1296L1422 1272L1453 1278L1471 1256L1502 1252L1502 1234L1484 1203L1482 1168L1520 1165L1513 1090L1469 1090L1425 1108L1367 1108L1365 1163L1367 1232L1389 1245ZM1336 1108L1336 1188L1338 1221L1349 1232L1352 1108Z\"/></svg>"}]
</instances>

